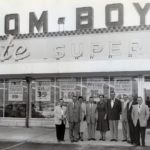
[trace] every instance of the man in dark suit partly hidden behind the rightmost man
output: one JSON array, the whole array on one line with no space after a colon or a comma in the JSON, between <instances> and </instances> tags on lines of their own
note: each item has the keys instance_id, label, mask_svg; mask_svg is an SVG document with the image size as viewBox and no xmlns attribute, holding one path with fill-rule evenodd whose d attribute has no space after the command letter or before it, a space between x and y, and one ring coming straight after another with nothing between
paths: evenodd
<instances>
[{"instance_id":1,"label":"man in dark suit partly hidden behind the rightmost man","mask_svg":"<svg viewBox=\"0 0 150 150\"><path fill-rule=\"evenodd\" d=\"M129 133L131 144L135 144L135 127L133 125L133 120L131 117L133 105L136 105L137 102L133 100L133 95L129 95L129 103L127 104L127 120L129 124Z\"/></svg>"}]
</instances>

